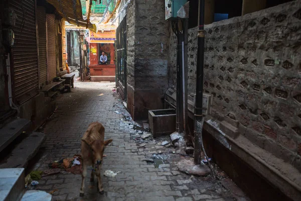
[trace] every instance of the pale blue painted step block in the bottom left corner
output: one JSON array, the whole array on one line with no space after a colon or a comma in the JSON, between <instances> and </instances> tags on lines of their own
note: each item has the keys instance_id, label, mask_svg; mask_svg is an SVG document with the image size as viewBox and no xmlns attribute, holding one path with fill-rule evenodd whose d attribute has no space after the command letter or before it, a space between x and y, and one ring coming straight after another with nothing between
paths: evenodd
<instances>
[{"instance_id":1,"label":"pale blue painted step block in the bottom left corner","mask_svg":"<svg viewBox=\"0 0 301 201\"><path fill-rule=\"evenodd\" d=\"M25 169L0 169L0 201L20 200L25 185Z\"/></svg>"}]
</instances>

